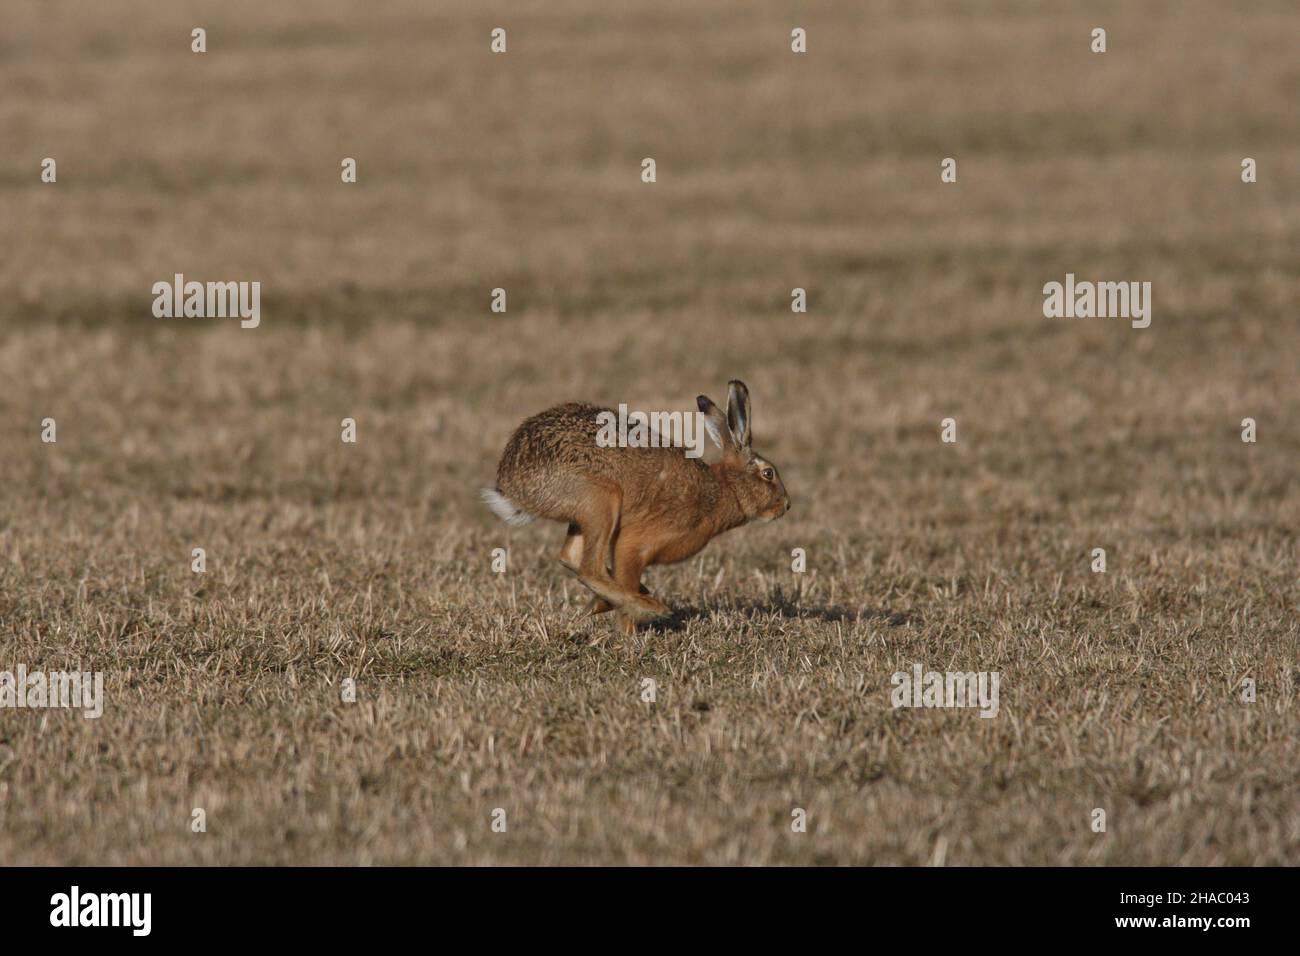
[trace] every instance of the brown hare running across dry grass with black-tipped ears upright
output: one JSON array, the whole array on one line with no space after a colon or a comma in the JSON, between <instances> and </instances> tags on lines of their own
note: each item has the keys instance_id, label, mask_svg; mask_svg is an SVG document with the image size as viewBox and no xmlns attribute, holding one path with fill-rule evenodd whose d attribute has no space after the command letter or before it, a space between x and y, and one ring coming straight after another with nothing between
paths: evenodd
<instances>
[{"instance_id":1,"label":"brown hare running across dry grass with black-tipped ears upright","mask_svg":"<svg viewBox=\"0 0 1300 956\"><path fill-rule=\"evenodd\" d=\"M696 399L723 457L715 464L680 447L603 447L592 405L559 405L521 424L484 501L510 524L547 518L568 524L560 563L595 597L589 614L618 609L623 630L668 614L641 585L650 564L697 554L716 535L790 507L776 467L750 449L749 389L728 386L727 414ZM651 442L658 444L658 442Z\"/></svg>"}]
</instances>

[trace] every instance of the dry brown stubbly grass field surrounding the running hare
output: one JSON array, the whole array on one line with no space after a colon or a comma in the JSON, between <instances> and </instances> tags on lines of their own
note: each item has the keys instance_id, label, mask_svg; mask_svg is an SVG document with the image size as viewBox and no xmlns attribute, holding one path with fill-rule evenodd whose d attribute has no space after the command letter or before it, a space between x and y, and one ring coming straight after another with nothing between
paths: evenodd
<instances>
[{"instance_id":1,"label":"dry brown stubbly grass field surrounding the running hare","mask_svg":"<svg viewBox=\"0 0 1300 956\"><path fill-rule=\"evenodd\" d=\"M1300 862L1294 3L10 7L0 860ZM732 377L793 510L580 620L510 432Z\"/></svg>"}]
</instances>

